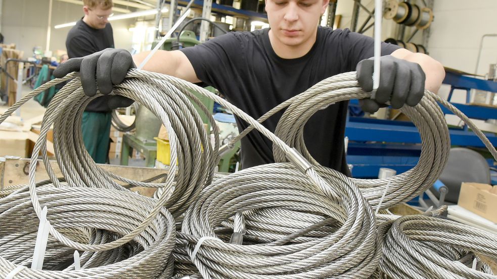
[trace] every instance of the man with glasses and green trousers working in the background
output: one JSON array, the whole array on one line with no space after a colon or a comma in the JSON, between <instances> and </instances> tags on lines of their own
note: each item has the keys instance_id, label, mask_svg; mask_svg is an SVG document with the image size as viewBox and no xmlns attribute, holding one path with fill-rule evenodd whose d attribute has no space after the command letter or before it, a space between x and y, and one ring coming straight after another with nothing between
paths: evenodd
<instances>
[{"instance_id":1,"label":"man with glasses and green trousers working in the background","mask_svg":"<svg viewBox=\"0 0 497 279\"><path fill-rule=\"evenodd\" d=\"M108 18L112 15L112 0L83 0L82 17L66 38L69 58L84 57L97 51L113 48L114 36ZM92 100L84 109L81 121L83 142L89 155L97 163L107 162L112 109L109 96Z\"/></svg>"}]
</instances>

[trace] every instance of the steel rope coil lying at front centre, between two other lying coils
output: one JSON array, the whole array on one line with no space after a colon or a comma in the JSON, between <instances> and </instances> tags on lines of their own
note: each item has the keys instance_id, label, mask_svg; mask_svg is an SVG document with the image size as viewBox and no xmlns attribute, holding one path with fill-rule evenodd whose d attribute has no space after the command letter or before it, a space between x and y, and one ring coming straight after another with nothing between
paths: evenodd
<instances>
[{"instance_id":1,"label":"steel rope coil lying at front centre, between two other lying coils","mask_svg":"<svg viewBox=\"0 0 497 279\"><path fill-rule=\"evenodd\" d=\"M316 191L314 183L290 163L261 165L228 175L206 187L190 206L178 238L191 243L186 246L190 257L199 239L220 240L205 240L194 257L204 278L368 277L381 257L376 219L350 179L335 173L330 187L339 194L338 201L332 195ZM249 245L224 243L222 240L229 240L230 235L214 232L223 220L237 212L261 208L314 214L322 219L331 218L336 225L328 228L330 232L325 235L311 235L296 242L285 239L288 233L285 229L289 228L282 228L277 241ZM299 224L298 218L294 223L294 227L300 226L293 228L294 232L309 225ZM271 223L267 225L266 230L274 229ZM273 227L277 226L275 223ZM257 228L247 225L245 236L251 230Z\"/></svg>"}]
</instances>

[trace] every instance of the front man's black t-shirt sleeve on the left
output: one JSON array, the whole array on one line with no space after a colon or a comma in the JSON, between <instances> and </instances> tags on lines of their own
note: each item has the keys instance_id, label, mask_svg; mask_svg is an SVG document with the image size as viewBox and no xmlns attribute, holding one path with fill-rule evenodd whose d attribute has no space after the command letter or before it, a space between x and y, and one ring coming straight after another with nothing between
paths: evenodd
<instances>
[{"instance_id":1,"label":"front man's black t-shirt sleeve on the left","mask_svg":"<svg viewBox=\"0 0 497 279\"><path fill-rule=\"evenodd\" d=\"M197 77L207 85L219 87L220 79L234 80L233 73L241 67L243 45L235 32L230 32L205 43L180 49L187 56Z\"/></svg>"}]
</instances>

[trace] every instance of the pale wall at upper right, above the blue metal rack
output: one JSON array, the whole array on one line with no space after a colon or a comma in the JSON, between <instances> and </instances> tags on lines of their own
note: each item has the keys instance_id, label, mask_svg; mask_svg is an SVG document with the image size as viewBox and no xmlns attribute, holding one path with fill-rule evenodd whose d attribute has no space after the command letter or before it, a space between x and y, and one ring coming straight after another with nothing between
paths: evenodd
<instances>
[{"instance_id":1,"label":"pale wall at upper right, above the blue metal rack","mask_svg":"<svg viewBox=\"0 0 497 279\"><path fill-rule=\"evenodd\" d=\"M474 73L481 37L497 33L497 1L435 0L433 13L430 56L446 67ZM484 39L477 74L486 74L492 63L497 63L497 37ZM439 93L446 96L448 91L442 85ZM456 90L451 101L465 103L465 96Z\"/></svg>"}]
</instances>

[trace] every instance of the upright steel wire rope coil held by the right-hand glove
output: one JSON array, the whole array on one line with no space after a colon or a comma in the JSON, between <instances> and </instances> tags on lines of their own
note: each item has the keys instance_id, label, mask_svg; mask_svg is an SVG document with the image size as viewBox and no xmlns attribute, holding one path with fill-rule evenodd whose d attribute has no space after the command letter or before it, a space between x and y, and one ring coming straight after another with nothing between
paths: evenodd
<instances>
[{"instance_id":1,"label":"upright steel wire rope coil held by the right-hand glove","mask_svg":"<svg viewBox=\"0 0 497 279\"><path fill-rule=\"evenodd\" d=\"M371 93L360 89L355 72L339 74L327 78L305 92L286 100L269 110L257 121L262 123L281 109L286 108L277 125L275 134L289 146L295 147L314 165L315 170L326 179L329 169L320 166L305 147L303 140L305 123L316 111L330 104L370 96ZM433 182L440 176L447 162L450 137L443 113L437 102L461 118L481 139L494 159L497 160L495 148L468 117L440 96L425 90L425 95L418 105L414 107L403 106L401 108L401 111L409 116L420 132L422 149L416 166L407 172L387 179L352 179L374 207L380 204L380 200L382 201L380 209L409 201L431 187ZM231 144L240 140L251 130L253 130L253 127L246 128L240 135L233 138ZM285 161L285 157L278 150L278 146L273 147L273 152L277 162ZM385 194L385 197L382 199L383 194Z\"/></svg>"}]
</instances>

